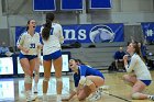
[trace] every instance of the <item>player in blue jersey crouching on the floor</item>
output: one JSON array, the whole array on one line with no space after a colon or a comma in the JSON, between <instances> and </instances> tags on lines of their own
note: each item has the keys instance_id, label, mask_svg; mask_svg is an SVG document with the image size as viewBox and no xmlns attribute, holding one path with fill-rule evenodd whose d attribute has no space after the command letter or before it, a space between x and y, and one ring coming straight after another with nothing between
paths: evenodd
<instances>
[{"instance_id":1,"label":"player in blue jersey crouching on the floor","mask_svg":"<svg viewBox=\"0 0 154 102\"><path fill-rule=\"evenodd\" d=\"M69 101L75 94L79 101L88 97L95 101L101 98L97 91L99 87L103 86L105 77L99 70L81 65L76 59L69 60L69 68L74 71L75 90L69 98L63 99L63 101Z\"/></svg>"}]
</instances>

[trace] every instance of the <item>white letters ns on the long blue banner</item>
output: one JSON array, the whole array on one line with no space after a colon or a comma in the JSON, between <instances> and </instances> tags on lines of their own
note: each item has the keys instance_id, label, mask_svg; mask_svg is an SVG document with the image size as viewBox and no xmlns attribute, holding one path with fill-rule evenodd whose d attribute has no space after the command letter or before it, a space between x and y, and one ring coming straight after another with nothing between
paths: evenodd
<instances>
[{"instance_id":1,"label":"white letters ns on the long blue banner","mask_svg":"<svg viewBox=\"0 0 154 102\"><path fill-rule=\"evenodd\" d=\"M64 37L65 39L86 39L86 30L79 30L78 33L75 30L64 30Z\"/></svg>"}]
</instances>

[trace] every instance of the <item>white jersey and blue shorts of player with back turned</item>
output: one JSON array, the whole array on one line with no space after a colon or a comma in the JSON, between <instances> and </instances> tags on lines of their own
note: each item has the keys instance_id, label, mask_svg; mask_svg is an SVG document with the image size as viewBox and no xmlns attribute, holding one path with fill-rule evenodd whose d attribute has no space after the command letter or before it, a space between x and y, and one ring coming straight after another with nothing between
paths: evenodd
<instances>
[{"instance_id":1,"label":"white jersey and blue shorts of player with back turned","mask_svg":"<svg viewBox=\"0 0 154 102\"><path fill-rule=\"evenodd\" d=\"M41 33L43 31L41 27ZM63 29L61 24L52 23L51 35L47 41L43 39L43 59L51 60L62 56L61 44L64 43Z\"/></svg>"}]
</instances>

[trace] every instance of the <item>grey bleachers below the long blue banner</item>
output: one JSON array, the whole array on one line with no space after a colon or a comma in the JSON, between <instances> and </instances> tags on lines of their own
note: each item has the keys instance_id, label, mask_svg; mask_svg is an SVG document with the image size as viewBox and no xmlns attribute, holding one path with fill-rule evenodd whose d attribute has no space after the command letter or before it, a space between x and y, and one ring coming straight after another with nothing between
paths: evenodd
<instances>
[{"instance_id":1,"label":"grey bleachers below the long blue banner","mask_svg":"<svg viewBox=\"0 0 154 102\"><path fill-rule=\"evenodd\" d=\"M81 59L85 64L88 64L97 69L106 70L113 61L113 55L122 46L127 47L125 42L117 43L99 43L95 44L96 47L89 47L90 44L81 44L80 48L63 49L64 52L70 52L72 58Z\"/></svg>"}]
</instances>

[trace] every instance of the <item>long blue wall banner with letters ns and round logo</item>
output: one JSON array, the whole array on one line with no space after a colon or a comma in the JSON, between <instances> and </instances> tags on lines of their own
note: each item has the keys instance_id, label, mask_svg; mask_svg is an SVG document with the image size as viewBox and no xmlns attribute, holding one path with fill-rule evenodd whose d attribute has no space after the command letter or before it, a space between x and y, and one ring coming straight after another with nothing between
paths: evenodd
<instances>
[{"instance_id":1,"label":"long blue wall banner with letters ns and round logo","mask_svg":"<svg viewBox=\"0 0 154 102\"><path fill-rule=\"evenodd\" d=\"M36 32L40 32L36 27ZM23 26L15 27L15 41L25 31ZM124 42L123 24L74 24L63 25L64 44Z\"/></svg>"}]
</instances>

